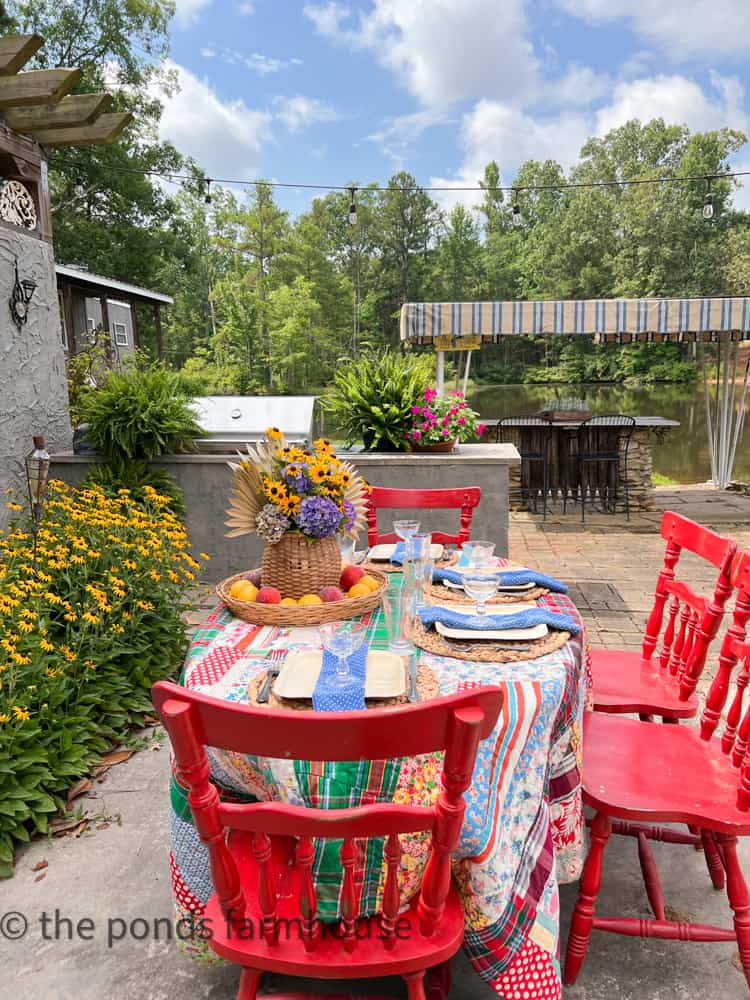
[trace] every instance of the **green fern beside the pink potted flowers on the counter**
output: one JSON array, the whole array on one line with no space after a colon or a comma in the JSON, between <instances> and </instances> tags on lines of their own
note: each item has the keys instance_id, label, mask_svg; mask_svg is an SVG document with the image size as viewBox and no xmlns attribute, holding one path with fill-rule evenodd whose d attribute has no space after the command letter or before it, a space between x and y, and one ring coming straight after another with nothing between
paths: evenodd
<instances>
[{"instance_id":1,"label":"green fern beside the pink potted flowers on the counter","mask_svg":"<svg viewBox=\"0 0 750 1000\"><path fill-rule=\"evenodd\" d=\"M432 378L433 359L426 354L368 353L345 360L323 397L323 407L347 444L402 450L411 427L412 406Z\"/></svg>"}]
</instances>

